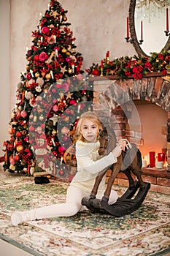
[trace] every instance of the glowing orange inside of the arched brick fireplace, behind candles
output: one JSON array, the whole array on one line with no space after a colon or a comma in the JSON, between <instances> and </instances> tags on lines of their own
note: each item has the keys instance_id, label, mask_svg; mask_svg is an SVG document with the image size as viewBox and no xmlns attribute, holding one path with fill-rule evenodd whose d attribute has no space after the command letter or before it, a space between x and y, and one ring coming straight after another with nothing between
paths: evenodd
<instances>
[{"instance_id":1,"label":"glowing orange inside of the arched brick fireplace, behind candles","mask_svg":"<svg viewBox=\"0 0 170 256\"><path fill-rule=\"evenodd\" d=\"M149 152L155 152L155 161L158 153L166 154L167 151L167 112L158 105L146 100L134 100L136 110L141 121L141 143L139 150L143 159L150 164ZM164 162L166 164L166 162ZM164 165L165 167L165 165Z\"/></svg>"}]
</instances>

